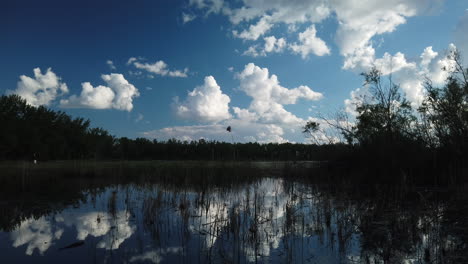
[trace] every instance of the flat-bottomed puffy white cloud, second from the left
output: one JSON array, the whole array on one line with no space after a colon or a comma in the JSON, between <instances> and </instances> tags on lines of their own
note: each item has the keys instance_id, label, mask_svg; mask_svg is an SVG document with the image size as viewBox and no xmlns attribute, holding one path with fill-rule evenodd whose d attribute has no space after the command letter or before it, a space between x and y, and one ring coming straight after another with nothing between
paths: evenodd
<instances>
[{"instance_id":1,"label":"flat-bottomed puffy white cloud, second from the left","mask_svg":"<svg viewBox=\"0 0 468 264\"><path fill-rule=\"evenodd\" d=\"M60 100L60 106L65 108L113 108L131 111L133 99L140 95L138 89L129 83L122 74L103 74L101 78L107 83L107 86L93 87L91 83L84 82L81 84L81 94Z\"/></svg>"}]
</instances>

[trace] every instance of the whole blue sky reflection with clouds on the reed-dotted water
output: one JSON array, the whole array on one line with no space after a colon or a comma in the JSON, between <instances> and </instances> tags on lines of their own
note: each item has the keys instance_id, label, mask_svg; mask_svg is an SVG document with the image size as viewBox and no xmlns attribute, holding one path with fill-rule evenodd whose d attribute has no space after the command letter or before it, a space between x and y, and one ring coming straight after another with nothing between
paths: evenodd
<instances>
[{"instance_id":1,"label":"whole blue sky reflection with clouds on the reed-dotted water","mask_svg":"<svg viewBox=\"0 0 468 264\"><path fill-rule=\"evenodd\" d=\"M36 257L56 254L59 248L85 241L83 247L120 254L119 258L123 254L127 263L174 263L181 262L181 256L188 262L194 258L205 262L219 252L231 260L240 255L240 262L359 262L360 236L352 227L342 230L353 233L347 246L339 248L342 245L337 241L338 219L357 219L357 211L349 204L334 205L328 196L320 198L305 186L295 186L294 193L285 186L280 179L263 179L242 190L216 189L203 194L175 192L157 185L109 188L99 195L88 195L79 206L24 220L8 239L13 249ZM147 202L156 207L148 210ZM330 227L324 221L327 210L331 213ZM230 226L234 211L240 221L236 234ZM184 215L188 215L185 220ZM254 226L257 232L252 231ZM4 243L2 237L0 233L0 245ZM241 241L236 242L237 238ZM428 240L422 235L423 247ZM379 259L371 254L367 257ZM219 256L213 259L219 262Z\"/></svg>"}]
</instances>

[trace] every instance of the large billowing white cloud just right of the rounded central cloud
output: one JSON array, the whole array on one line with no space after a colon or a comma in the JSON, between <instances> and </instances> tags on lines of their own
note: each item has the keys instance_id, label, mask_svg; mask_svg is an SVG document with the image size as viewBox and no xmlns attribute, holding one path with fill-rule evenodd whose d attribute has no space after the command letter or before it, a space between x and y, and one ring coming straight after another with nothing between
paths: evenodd
<instances>
[{"instance_id":1,"label":"large billowing white cloud just right of the rounded central cloud","mask_svg":"<svg viewBox=\"0 0 468 264\"><path fill-rule=\"evenodd\" d=\"M315 92L308 86L301 85L288 89L280 85L278 77L270 76L267 68L260 68L253 63L245 66L237 74L240 80L240 90L252 98L249 111L255 113L264 122L294 123L300 121L298 117L286 111L283 105L295 104L298 99L319 100L321 93ZM238 110L237 112L240 113Z\"/></svg>"}]
</instances>

